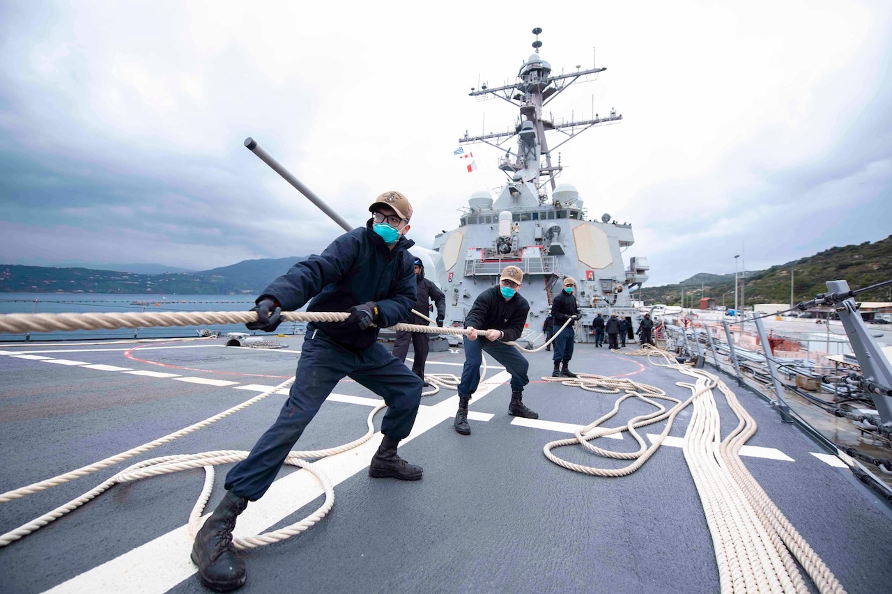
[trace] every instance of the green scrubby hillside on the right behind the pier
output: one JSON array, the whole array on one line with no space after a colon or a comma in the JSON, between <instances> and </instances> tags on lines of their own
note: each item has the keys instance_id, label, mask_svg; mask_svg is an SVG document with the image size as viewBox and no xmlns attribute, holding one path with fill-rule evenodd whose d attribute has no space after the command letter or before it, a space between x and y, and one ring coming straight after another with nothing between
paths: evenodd
<instances>
[{"instance_id":1,"label":"green scrubby hillside on the right behind the pier","mask_svg":"<svg viewBox=\"0 0 892 594\"><path fill-rule=\"evenodd\" d=\"M892 235L874 243L832 247L767 270L747 270L746 278L741 276L740 297L745 297L747 305L789 303L792 289L793 301L808 301L815 294L827 291L826 283L831 280L846 280L852 289L892 280ZM734 306L733 274L700 273L678 285L645 285L633 295L636 299L643 295L647 303L681 305L682 286L686 307L697 307L701 297L712 298L716 305ZM892 301L892 286L862 293L858 301Z\"/></svg>"}]
</instances>

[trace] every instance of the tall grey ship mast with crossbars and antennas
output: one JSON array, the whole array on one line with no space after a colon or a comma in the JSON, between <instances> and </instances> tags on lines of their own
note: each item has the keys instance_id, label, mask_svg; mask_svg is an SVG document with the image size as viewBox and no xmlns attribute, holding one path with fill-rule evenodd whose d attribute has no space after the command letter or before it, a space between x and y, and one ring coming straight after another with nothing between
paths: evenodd
<instances>
[{"instance_id":1,"label":"tall grey ship mast with crossbars and antennas","mask_svg":"<svg viewBox=\"0 0 892 594\"><path fill-rule=\"evenodd\" d=\"M536 36L536 40L533 41L535 54L524 62L513 85L490 88L483 84L480 89L472 88L469 94L471 96L493 95L518 108L520 119L514 131L484 134L483 136L468 136L466 132L464 137L458 139L458 143L483 143L502 150L503 144L514 136L518 136L517 153L512 154L509 149L502 157L499 169L505 171L506 174L511 172L511 177L516 181L522 180L531 183L537 189L550 184L551 189L554 190L557 183L556 177L563 168L559 162L557 165L552 164L551 152L585 130L594 126L616 123L623 120L623 116L611 109L610 115L605 118L599 117L596 113L594 118L582 121L556 123L553 120L544 119L542 108L560 95L566 87L583 77L585 78L582 79L582 82L587 82L591 80L588 75L598 74L607 69L579 70L580 67L577 66L576 70L570 74L551 76L551 65L539 56L539 48L542 46L542 42L539 40L541 32L542 29L539 27L533 29L533 35ZM545 137L546 130L558 130L566 135L566 138L549 149ZM545 158L544 161L542 157Z\"/></svg>"}]
</instances>

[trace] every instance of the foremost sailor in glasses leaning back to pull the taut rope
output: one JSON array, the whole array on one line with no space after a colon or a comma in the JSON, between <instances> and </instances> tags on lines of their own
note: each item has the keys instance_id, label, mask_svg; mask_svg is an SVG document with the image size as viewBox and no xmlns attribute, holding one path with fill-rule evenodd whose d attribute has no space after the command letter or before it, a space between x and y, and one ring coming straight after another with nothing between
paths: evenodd
<instances>
[{"instance_id":1,"label":"foremost sailor in glasses leaning back to pull the taut rope","mask_svg":"<svg viewBox=\"0 0 892 594\"><path fill-rule=\"evenodd\" d=\"M384 440L368 467L369 476L405 481L421 478L420 466L397 456L421 402L421 380L377 342L378 328L406 318L415 305L416 281L409 247L412 207L399 192L385 192L368 209L366 227L341 235L321 255L312 255L279 276L257 298L258 320L249 330L273 332L281 311L351 312L343 322L310 322L294 383L276 422L260 436L247 458L226 477L226 495L195 536L192 561L202 583L228 591L247 580L235 554L232 531L248 501L260 499L276 480L294 443L344 376L379 394L387 403L381 422ZM361 303L361 305L357 305ZM377 326L375 326L375 324Z\"/></svg>"}]
</instances>

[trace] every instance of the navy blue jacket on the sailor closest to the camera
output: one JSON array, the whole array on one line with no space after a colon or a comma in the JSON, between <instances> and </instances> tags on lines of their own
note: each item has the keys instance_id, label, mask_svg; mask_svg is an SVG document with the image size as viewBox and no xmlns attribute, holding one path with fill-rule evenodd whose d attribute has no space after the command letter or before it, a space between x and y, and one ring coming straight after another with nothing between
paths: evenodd
<instances>
[{"instance_id":1,"label":"navy blue jacket on the sailor closest to the camera","mask_svg":"<svg viewBox=\"0 0 892 594\"><path fill-rule=\"evenodd\" d=\"M378 327L393 326L409 315L415 306L415 270L409 247L410 239L400 237L391 250L372 230L372 219L335 239L320 255L313 254L298 262L269 284L257 298L272 297L284 311L300 309L310 301L307 311L346 311L354 305L375 301ZM310 322L332 340L351 349L366 349L375 343L378 327L359 332L357 326L343 322Z\"/></svg>"}]
</instances>

